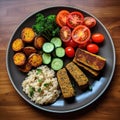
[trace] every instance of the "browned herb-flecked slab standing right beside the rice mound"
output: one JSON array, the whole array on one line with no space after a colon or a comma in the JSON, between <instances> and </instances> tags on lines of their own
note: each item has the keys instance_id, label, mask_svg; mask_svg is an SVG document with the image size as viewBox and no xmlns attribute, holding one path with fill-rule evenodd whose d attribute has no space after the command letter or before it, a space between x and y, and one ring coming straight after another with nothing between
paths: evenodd
<instances>
[{"instance_id":1,"label":"browned herb-flecked slab standing right beside the rice mound","mask_svg":"<svg viewBox=\"0 0 120 120\"><path fill-rule=\"evenodd\" d=\"M58 82L62 91L62 95L64 98L70 98L75 96L75 91L72 87L70 79L67 75L67 71L65 68L59 70L57 72Z\"/></svg>"}]
</instances>

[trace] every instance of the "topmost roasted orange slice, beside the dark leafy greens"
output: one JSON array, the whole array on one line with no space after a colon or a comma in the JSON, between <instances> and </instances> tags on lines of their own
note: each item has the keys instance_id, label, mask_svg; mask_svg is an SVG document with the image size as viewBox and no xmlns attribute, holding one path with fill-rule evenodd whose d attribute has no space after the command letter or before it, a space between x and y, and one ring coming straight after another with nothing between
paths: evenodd
<instances>
[{"instance_id":1,"label":"topmost roasted orange slice, beside the dark leafy greens","mask_svg":"<svg viewBox=\"0 0 120 120\"><path fill-rule=\"evenodd\" d=\"M21 37L22 37L22 40L23 40L24 42L30 43L30 42L33 41L33 39L34 39L34 37L35 37L35 32L33 31L32 28L30 28L30 27L25 27L25 28L22 30Z\"/></svg>"}]
</instances>

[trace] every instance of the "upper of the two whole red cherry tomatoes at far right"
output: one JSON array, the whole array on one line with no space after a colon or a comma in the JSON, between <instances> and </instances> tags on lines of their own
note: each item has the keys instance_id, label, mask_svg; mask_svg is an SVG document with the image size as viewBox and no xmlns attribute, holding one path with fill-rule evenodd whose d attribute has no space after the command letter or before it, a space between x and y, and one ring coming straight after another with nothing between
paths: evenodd
<instances>
[{"instance_id":1,"label":"upper of the two whole red cherry tomatoes at far right","mask_svg":"<svg viewBox=\"0 0 120 120\"><path fill-rule=\"evenodd\" d=\"M92 40L95 43L102 43L104 41L105 37L101 33L95 33L92 35Z\"/></svg>"}]
</instances>

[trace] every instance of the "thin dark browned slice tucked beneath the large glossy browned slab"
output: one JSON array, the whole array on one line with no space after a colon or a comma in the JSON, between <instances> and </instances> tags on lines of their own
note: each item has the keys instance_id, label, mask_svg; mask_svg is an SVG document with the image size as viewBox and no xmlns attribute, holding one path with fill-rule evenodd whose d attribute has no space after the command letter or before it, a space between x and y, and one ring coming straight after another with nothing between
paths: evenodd
<instances>
[{"instance_id":1,"label":"thin dark browned slice tucked beneath the large glossy browned slab","mask_svg":"<svg viewBox=\"0 0 120 120\"><path fill-rule=\"evenodd\" d=\"M95 71L95 70L83 65L82 63L77 62L77 60L75 58L73 59L73 62L76 63L79 67L81 67L84 70L86 70L87 72L89 72L89 74L91 74L92 76L97 77L99 75L99 71Z\"/></svg>"}]
</instances>

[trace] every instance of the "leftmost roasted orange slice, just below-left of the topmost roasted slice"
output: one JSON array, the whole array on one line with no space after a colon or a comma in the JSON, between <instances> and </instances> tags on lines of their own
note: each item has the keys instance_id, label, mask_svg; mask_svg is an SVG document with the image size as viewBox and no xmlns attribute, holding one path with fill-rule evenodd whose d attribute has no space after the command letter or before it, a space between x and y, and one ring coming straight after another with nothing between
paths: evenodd
<instances>
[{"instance_id":1,"label":"leftmost roasted orange slice, just below-left of the topmost roasted slice","mask_svg":"<svg viewBox=\"0 0 120 120\"><path fill-rule=\"evenodd\" d=\"M20 39L20 38L17 38L12 43L12 49L13 49L13 51L16 51L16 52L20 51L20 50L23 49L23 47L24 47L24 43L23 43L22 39Z\"/></svg>"}]
</instances>

